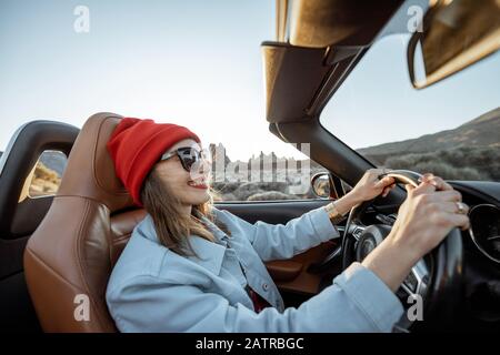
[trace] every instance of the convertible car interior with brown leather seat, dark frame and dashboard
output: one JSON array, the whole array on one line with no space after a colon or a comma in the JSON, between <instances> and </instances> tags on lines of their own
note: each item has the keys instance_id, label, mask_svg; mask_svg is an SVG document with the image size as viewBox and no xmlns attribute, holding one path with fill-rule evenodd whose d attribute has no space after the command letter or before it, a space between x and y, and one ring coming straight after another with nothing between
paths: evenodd
<instances>
[{"instance_id":1,"label":"convertible car interior with brown leather seat, dark frame and dashboard","mask_svg":"<svg viewBox=\"0 0 500 355\"><path fill-rule=\"evenodd\" d=\"M457 2L467 13L474 13L470 1ZM416 33L411 43L421 41L427 50L430 41L424 34L438 10L447 10L448 3L278 0L276 40L261 44L269 130L283 142L313 142L310 158L326 169L330 194L312 200L217 202L217 207L250 223L278 224L346 194L374 165L320 123L324 106L374 42L407 31L407 22L398 19L407 16L409 6L426 9L428 27L423 34ZM493 12L493 18L494 13L499 12ZM483 32L494 33L498 43L499 29L497 19ZM490 48L481 55L496 50ZM411 70L412 59L408 61ZM437 63L423 83L412 75L410 80L422 89L463 68L447 65L443 71ZM11 138L0 158L1 331L117 331L107 310L106 286L133 227L146 215L116 176L106 149L121 118L96 113L81 129L34 120ZM32 197L27 194L29 178L44 151L63 153L66 168L54 195ZM419 173L390 172L400 184L417 183ZM407 307L408 297L422 296L424 321L401 320L394 331L500 331L500 182L449 183L471 207L471 227L452 230L412 268L397 294ZM286 306L299 306L331 284L351 262L361 261L390 232L404 199L404 189L398 185L387 197L353 209L339 226L339 240L291 260L267 263ZM74 316L80 294L89 297L89 321Z\"/></svg>"}]
</instances>

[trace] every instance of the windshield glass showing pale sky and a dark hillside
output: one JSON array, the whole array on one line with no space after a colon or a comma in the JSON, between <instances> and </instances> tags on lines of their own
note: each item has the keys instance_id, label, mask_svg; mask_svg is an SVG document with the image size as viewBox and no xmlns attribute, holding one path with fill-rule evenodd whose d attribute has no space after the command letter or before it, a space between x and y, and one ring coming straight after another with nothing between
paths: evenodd
<instances>
[{"instance_id":1,"label":"windshield glass showing pale sky and a dark hillside","mask_svg":"<svg viewBox=\"0 0 500 355\"><path fill-rule=\"evenodd\" d=\"M330 100L321 124L377 166L499 181L500 52L416 90L408 40L379 40Z\"/></svg>"}]
</instances>

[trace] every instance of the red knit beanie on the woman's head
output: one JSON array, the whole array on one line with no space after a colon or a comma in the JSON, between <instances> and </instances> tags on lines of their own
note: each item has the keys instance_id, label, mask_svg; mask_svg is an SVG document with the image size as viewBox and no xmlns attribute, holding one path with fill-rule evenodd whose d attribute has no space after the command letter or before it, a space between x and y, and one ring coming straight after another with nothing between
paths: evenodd
<instances>
[{"instance_id":1,"label":"red knit beanie on the woman's head","mask_svg":"<svg viewBox=\"0 0 500 355\"><path fill-rule=\"evenodd\" d=\"M137 205L142 206L140 193L151 168L173 144L189 138L200 143L198 135L182 125L132 118L121 120L107 146L117 176Z\"/></svg>"}]
</instances>

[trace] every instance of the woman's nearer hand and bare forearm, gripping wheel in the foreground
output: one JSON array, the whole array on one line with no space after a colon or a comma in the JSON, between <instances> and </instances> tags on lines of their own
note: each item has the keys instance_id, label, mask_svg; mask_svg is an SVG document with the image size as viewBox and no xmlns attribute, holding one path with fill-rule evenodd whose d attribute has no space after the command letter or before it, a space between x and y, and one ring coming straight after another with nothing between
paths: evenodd
<instances>
[{"instance_id":1,"label":"woman's nearer hand and bare forearm, gripping wheel in the foreground","mask_svg":"<svg viewBox=\"0 0 500 355\"><path fill-rule=\"evenodd\" d=\"M408 196L390 234L362 262L393 291L452 229L469 226L461 194L441 178L426 174L417 187L406 186Z\"/></svg>"}]
</instances>

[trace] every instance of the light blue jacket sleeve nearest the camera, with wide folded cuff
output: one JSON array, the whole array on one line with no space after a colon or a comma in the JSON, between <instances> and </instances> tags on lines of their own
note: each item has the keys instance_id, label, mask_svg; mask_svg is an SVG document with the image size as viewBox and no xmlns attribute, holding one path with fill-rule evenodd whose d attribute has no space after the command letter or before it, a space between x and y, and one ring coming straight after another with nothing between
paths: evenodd
<instances>
[{"instance_id":1,"label":"light blue jacket sleeve nearest the camera, with wide folded cuff","mask_svg":"<svg viewBox=\"0 0 500 355\"><path fill-rule=\"evenodd\" d=\"M391 332L403 308L371 271L354 263L298 308L254 313L194 285L137 276L108 295L121 332Z\"/></svg>"}]
</instances>

